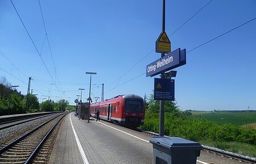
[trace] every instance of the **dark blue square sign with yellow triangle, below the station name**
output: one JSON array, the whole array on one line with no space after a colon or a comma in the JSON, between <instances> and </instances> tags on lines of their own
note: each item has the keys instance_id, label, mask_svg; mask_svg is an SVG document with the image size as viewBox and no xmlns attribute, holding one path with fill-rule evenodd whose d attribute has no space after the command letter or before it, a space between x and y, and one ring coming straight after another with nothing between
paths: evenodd
<instances>
[{"instance_id":1,"label":"dark blue square sign with yellow triangle, below the station name","mask_svg":"<svg viewBox=\"0 0 256 164\"><path fill-rule=\"evenodd\" d=\"M174 101L174 80L155 78L154 100Z\"/></svg>"}]
</instances>

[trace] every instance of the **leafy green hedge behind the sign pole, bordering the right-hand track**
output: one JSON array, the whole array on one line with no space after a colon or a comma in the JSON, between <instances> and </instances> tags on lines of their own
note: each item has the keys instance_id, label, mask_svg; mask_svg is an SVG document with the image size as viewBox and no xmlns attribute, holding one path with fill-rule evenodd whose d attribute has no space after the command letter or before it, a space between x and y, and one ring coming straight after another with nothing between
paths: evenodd
<instances>
[{"instance_id":1,"label":"leafy green hedge behind the sign pole, bordering the right-hand track","mask_svg":"<svg viewBox=\"0 0 256 164\"><path fill-rule=\"evenodd\" d=\"M159 132L159 114L146 112L144 130ZM238 141L256 145L256 130L233 124L219 125L202 118L190 118L181 112L164 114L164 135L192 141Z\"/></svg>"}]
</instances>

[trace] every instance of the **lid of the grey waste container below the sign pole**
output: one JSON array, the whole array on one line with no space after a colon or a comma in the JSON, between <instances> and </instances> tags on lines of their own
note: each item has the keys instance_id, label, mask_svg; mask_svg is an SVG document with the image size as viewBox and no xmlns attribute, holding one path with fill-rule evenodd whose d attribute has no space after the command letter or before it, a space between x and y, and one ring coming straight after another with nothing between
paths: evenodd
<instances>
[{"instance_id":1,"label":"lid of the grey waste container below the sign pole","mask_svg":"<svg viewBox=\"0 0 256 164\"><path fill-rule=\"evenodd\" d=\"M182 139L180 137L152 137L150 143L161 145L168 149L187 148L201 150L203 146L194 141Z\"/></svg>"}]
</instances>

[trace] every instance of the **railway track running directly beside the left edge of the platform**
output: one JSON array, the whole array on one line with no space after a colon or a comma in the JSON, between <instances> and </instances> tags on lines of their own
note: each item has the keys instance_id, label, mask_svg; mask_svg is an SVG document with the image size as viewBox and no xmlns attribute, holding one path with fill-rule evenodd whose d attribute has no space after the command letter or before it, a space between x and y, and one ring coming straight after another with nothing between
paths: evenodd
<instances>
[{"instance_id":1,"label":"railway track running directly beside the left edge of the platform","mask_svg":"<svg viewBox=\"0 0 256 164\"><path fill-rule=\"evenodd\" d=\"M3 146L0 163L45 163L49 147L53 145L53 137L49 136L65 115L57 115Z\"/></svg>"}]
</instances>

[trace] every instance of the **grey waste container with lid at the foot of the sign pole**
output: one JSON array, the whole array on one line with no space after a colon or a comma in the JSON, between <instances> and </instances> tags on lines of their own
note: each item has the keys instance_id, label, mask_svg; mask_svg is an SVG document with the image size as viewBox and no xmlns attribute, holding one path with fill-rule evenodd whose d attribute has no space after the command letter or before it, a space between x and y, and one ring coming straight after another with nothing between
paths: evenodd
<instances>
[{"instance_id":1,"label":"grey waste container with lid at the foot of the sign pole","mask_svg":"<svg viewBox=\"0 0 256 164\"><path fill-rule=\"evenodd\" d=\"M196 163L203 146L179 137L152 137L154 163Z\"/></svg>"}]
</instances>

